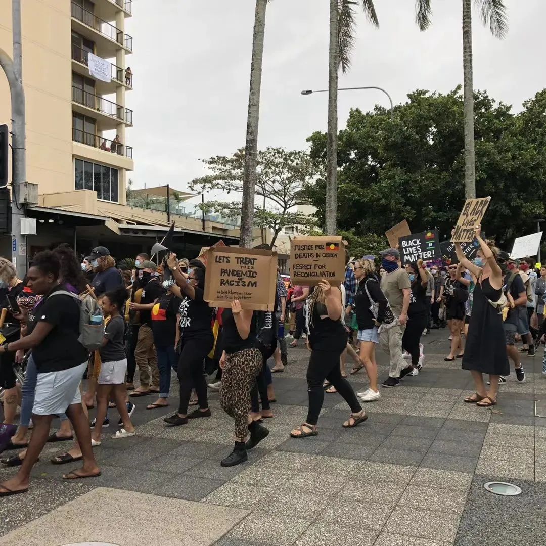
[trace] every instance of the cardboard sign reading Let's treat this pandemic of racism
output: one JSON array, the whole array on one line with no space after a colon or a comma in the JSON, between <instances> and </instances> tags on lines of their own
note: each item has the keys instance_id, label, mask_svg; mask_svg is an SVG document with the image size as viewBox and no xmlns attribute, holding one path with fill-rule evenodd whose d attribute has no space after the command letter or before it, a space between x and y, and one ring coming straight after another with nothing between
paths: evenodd
<instances>
[{"instance_id":1,"label":"cardboard sign reading Let's treat this pandemic of racism","mask_svg":"<svg viewBox=\"0 0 546 546\"><path fill-rule=\"evenodd\" d=\"M204 300L209 307L275 311L277 253L270 250L211 246L206 252Z\"/></svg>"}]
</instances>

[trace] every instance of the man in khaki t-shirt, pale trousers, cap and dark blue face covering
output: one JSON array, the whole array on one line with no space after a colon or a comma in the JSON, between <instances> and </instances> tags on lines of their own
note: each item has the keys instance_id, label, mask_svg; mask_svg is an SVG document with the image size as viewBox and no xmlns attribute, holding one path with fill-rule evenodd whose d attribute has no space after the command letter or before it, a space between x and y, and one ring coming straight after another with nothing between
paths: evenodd
<instances>
[{"instance_id":1,"label":"man in khaki t-shirt, pale trousers, cap and dark blue face covering","mask_svg":"<svg viewBox=\"0 0 546 546\"><path fill-rule=\"evenodd\" d=\"M382 325L379 331L379 345L389 355L389 377L382 387L397 387L400 379L413 370L402 357L402 336L408 321L410 307L410 277L406 270L400 268L400 254L396 248L387 248L382 252L381 265L386 273L381 278L381 290L387 298L395 316L395 325ZM396 320L397 319L397 320Z\"/></svg>"}]
</instances>

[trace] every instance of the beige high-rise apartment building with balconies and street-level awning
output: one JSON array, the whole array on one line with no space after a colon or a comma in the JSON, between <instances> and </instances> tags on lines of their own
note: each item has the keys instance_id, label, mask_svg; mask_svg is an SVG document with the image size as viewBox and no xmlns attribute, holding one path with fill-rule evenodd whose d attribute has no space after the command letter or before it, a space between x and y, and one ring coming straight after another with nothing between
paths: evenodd
<instances>
[{"instance_id":1,"label":"beige high-rise apartment building with balconies and street-level awning","mask_svg":"<svg viewBox=\"0 0 546 546\"><path fill-rule=\"evenodd\" d=\"M56 242L82 253L100 242L120 257L130 255L161 240L169 219L187 253L220 238L238 243L233 226L126 204L128 177L145 153L131 146L139 112L130 108L130 95L143 75L130 69L138 39L126 32L126 22L138 2L21 2L27 180L39 193L39 203L27 211L38 228L28 236L29 255ZM5 0L0 48L11 54L12 41L11 2ZM9 87L0 72L0 123L9 120Z\"/></svg>"}]
</instances>

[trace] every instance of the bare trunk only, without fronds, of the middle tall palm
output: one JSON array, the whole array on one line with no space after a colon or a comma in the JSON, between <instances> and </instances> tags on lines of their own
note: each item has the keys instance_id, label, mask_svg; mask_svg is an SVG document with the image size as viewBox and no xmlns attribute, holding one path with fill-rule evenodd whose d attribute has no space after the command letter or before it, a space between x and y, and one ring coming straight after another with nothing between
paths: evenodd
<instances>
[{"instance_id":1,"label":"bare trunk only, without fronds, of the middle tall palm","mask_svg":"<svg viewBox=\"0 0 546 546\"><path fill-rule=\"evenodd\" d=\"M326 234L337 224L337 69L339 67L339 5L330 0L330 62L328 67L328 144L326 152Z\"/></svg>"}]
</instances>

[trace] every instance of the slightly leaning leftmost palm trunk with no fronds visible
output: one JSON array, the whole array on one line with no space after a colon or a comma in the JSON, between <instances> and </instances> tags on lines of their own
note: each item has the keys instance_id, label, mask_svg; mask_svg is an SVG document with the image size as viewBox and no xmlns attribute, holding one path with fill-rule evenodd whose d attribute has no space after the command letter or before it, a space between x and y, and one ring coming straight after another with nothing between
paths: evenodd
<instances>
[{"instance_id":1,"label":"slightly leaning leftmost palm trunk with no fronds visible","mask_svg":"<svg viewBox=\"0 0 546 546\"><path fill-rule=\"evenodd\" d=\"M252 229L254 227L258 122L260 118L260 89L262 87L262 58L264 54L265 9L267 2L268 0L256 0L256 15L254 16L239 241L239 246L244 248L252 247Z\"/></svg>"}]
</instances>

